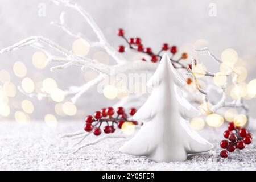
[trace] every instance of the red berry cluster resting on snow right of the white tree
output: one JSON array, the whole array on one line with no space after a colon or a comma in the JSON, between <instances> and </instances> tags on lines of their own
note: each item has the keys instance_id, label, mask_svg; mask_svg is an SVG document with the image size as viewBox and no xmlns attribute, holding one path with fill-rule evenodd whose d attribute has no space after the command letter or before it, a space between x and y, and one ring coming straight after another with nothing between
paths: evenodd
<instances>
[{"instance_id":1,"label":"red berry cluster resting on snow right of the white tree","mask_svg":"<svg viewBox=\"0 0 256 182\"><path fill-rule=\"evenodd\" d=\"M224 131L224 137L228 140L222 140L220 143L222 150L220 156L222 158L228 157L228 151L234 152L236 149L243 150L246 144L250 144L253 140L253 135L248 133L245 128L237 127L234 123L229 123L228 130Z\"/></svg>"}]
</instances>

